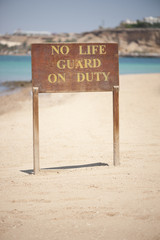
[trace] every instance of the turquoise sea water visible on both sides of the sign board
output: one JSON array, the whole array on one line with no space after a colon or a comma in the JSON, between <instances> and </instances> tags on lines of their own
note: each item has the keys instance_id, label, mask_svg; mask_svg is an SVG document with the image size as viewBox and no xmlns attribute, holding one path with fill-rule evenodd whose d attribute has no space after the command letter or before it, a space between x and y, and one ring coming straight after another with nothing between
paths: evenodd
<instances>
[{"instance_id":1,"label":"turquoise sea water visible on both sides of the sign board","mask_svg":"<svg viewBox=\"0 0 160 240\"><path fill-rule=\"evenodd\" d=\"M160 73L160 58L120 57L119 73ZM0 56L0 83L24 80L31 80L31 57Z\"/></svg>"}]
</instances>

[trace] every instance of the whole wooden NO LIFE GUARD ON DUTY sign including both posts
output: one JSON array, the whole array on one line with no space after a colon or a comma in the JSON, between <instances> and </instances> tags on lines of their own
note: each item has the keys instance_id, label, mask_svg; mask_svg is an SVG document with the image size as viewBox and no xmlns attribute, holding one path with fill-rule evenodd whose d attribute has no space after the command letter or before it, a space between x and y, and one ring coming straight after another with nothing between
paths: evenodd
<instances>
[{"instance_id":1,"label":"whole wooden NO LIFE GUARD ON DUTY sign including both posts","mask_svg":"<svg viewBox=\"0 0 160 240\"><path fill-rule=\"evenodd\" d=\"M119 64L116 43L32 44L33 158L39 164L39 93L113 92L113 163L119 164Z\"/></svg>"}]
</instances>

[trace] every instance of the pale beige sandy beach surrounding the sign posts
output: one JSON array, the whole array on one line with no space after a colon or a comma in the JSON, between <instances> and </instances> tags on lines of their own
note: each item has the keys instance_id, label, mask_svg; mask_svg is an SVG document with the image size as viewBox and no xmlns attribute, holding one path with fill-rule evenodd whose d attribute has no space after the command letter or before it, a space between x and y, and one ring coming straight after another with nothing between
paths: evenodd
<instances>
[{"instance_id":1,"label":"pale beige sandy beach surrounding the sign posts","mask_svg":"<svg viewBox=\"0 0 160 240\"><path fill-rule=\"evenodd\" d=\"M36 176L31 88L0 99L1 240L160 239L160 74L120 76L118 167L112 93L40 95Z\"/></svg>"}]
</instances>

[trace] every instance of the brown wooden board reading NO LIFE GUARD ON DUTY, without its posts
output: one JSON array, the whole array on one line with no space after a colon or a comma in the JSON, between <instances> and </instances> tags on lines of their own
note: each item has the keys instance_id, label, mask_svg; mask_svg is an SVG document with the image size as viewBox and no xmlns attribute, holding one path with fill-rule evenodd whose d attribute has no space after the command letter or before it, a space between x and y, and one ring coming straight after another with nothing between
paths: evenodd
<instances>
[{"instance_id":1,"label":"brown wooden board reading NO LIFE GUARD ON DUTY, without its posts","mask_svg":"<svg viewBox=\"0 0 160 240\"><path fill-rule=\"evenodd\" d=\"M32 81L40 93L112 91L119 85L118 45L33 44Z\"/></svg>"}]
</instances>

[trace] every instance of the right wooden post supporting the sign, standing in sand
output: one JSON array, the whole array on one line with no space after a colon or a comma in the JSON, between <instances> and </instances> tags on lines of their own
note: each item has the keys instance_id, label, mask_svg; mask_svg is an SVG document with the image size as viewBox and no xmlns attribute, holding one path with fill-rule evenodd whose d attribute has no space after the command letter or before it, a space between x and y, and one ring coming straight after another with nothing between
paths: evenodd
<instances>
[{"instance_id":1,"label":"right wooden post supporting the sign, standing in sand","mask_svg":"<svg viewBox=\"0 0 160 240\"><path fill-rule=\"evenodd\" d=\"M120 164L119 159L119 87L113 87L113 164Z\"/></svg>"}]
</instances>

